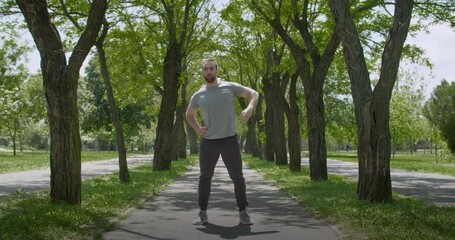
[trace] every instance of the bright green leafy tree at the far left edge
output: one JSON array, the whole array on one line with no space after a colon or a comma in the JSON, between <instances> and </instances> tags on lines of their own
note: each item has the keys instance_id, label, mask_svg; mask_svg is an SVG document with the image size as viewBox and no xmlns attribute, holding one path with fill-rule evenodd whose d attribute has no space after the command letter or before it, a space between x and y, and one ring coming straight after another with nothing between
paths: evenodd
<instances>
[{"instance_id":1,"label":"bright green leafy tree at the far left edge","mask_svg":"<svg viewBox=\"0 0 455 240\"><path fill-rule=\"evenodd\" d=\"M0 133L8 135L16 148L19 136L44 116L45 103L39 78L30 78L23 63L28 48L18 45L15 30L8 33L0 37Z\"/></svg>"}]
</instances>

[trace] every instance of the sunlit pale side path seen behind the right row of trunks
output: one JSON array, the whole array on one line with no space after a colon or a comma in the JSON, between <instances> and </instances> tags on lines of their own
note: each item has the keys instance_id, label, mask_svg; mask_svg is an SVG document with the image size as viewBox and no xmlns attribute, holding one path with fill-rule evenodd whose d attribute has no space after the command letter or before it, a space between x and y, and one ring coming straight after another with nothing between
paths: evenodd
<instances>
[{"instance_id":1,"label":"sunlit pale side path seen behind the right row of trunks","mask_svg":"<svg viewBox=\"0 0 455 240\"><path fill-rule=\"evenodd\" d=\"M302 159L308 167L308 158ZM327 160L331 174L358 179L358 164L338 160ZM392 190L420 198L438 205L455 206L455 177L434 173L411 172L392 169Z\"/></svg>"}]
</instances>

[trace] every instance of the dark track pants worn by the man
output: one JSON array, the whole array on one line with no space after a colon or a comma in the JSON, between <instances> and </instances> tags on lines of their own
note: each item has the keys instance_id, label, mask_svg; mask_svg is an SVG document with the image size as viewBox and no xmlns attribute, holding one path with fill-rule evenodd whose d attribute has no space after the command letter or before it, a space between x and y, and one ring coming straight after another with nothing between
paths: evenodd
<instances>
[{"instance_id":1,"label":"dark track pants worn by the man","mask_svg":"<svg viewBox=\"0 0 455 240\"><path fill-rule=\"evenodd\" d=\"M212 177L215 171L216 163L220 157L223 159L229 177L234 183L235 199L239 210L243 210L248 205L246 198L245 179L242 171L242 156L237 135L222 139L205 139L202 138L199 153L199 187L198 203L201 210L207 210Z\"/></svg>"}]
</instances>

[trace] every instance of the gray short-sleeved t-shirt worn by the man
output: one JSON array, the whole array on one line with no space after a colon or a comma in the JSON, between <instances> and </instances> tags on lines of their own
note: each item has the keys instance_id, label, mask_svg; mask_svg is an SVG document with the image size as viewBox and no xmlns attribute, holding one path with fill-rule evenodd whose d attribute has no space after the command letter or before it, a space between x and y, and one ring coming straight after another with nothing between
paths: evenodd
<instances>
[{"instance_id":1,"label":"gray short-sleeved t-shirt worn by the man","mask_svg":"<svg viewBox=\"0 0 455 240\"><path fill-rule=\"evenodd\" d=\"M195 92L190 107L202 109L206 139L220 139L237 134L235 96L240 96L246 88L238 83L221 81L218 86L205 85Z\"/></svg>"}]
</instances>

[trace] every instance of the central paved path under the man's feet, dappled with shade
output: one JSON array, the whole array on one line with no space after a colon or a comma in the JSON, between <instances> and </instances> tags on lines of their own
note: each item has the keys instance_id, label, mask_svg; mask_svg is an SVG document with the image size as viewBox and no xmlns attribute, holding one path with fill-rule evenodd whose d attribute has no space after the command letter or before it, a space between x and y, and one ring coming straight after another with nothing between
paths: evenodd
<instances>
[{"instance_id":1,"label":"central paved path under the man's feet, dappled with shade","mask_svg":"<svg viewBox=\"0 0 455 240\"><path fill-rule=\"evenodd\" d=\"M192 225L198 211L197 182L199 167L170 184L155 199L146 201L104 239L340 239L334 226L312 218L296 201L265 181L254 170L244 168L248 211L254 225L238 224L234 190L220 160L212 180L212 194L207 211L209 224Z\"/></svg>"}]
</instances>

